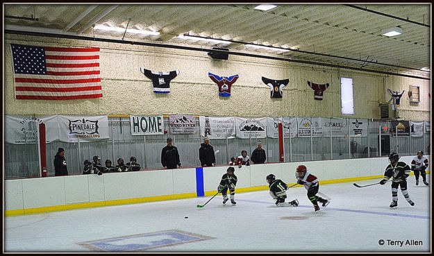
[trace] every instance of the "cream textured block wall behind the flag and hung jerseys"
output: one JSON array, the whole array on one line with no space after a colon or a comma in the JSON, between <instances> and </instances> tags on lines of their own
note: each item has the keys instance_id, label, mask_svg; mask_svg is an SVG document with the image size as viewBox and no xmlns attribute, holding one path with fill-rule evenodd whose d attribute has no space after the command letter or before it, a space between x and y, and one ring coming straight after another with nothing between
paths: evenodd
<instances>
[{"instance_id":1,"label":"cream textured block wall behind the flag and hung jerseys","mask_svg":"<svg viewBox=\"0 0 434 256\"><path fill-rule=\"evenodd\" d=\"M14 96L10 43L58 47L99 47L103 97L72 101L16 100ZM52 37L5 35L5 114L199 114L237 117L344 117L340 106L340 77L353 78L354 114L345 117L378 119L379 102L390 99L387 88L405 89L419 85L421 103L401 98L400 115L412 121L430 119L428 80L362 73L292 62L229 56L212 60L206 52L165 49L132 44L69 40ZM264 53L265 54L265 53ZM156 71L180 69L170 83L169 94L153 92L151 80L140 67ZM231 97L218 96L218 87L208 72L219 76L238 74ZM289 78L282 99L271 99L270 89L261 76ZM323 101L314 100L307 80L329 83Z\"/></svg>"}]
</instances>

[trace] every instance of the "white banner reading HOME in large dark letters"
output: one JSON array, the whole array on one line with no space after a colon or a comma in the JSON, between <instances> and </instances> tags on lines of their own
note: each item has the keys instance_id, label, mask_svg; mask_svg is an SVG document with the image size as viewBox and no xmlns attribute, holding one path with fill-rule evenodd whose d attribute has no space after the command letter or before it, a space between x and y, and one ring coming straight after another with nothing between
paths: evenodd
<instances>
[{"instance_id":1,"label":"white banner reading HOME in large dark letters","mask_svg":"<svg viewBox=\"0 0 434 256\"><path fill-rule=\"evenodd\" d=\"M161 116L130 116L131 135L164 135Z\"/></svg>"}]
</instances>

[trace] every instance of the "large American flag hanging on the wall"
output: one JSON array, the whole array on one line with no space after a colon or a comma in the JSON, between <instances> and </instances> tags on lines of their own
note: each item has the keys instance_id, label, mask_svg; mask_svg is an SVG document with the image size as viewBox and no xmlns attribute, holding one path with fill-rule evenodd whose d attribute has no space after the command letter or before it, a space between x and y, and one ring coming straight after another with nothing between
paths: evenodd
<instances>
[{"instance_id":1,"label":"large American flag hanging on the wall","mask_svg":"<svg viewBox=\"0 0 434 256\"><path fill-rule=\"evenodd\" d=\"M99 48L10 44L16 99L99 98Z\"/></svg>"}]
</instances>

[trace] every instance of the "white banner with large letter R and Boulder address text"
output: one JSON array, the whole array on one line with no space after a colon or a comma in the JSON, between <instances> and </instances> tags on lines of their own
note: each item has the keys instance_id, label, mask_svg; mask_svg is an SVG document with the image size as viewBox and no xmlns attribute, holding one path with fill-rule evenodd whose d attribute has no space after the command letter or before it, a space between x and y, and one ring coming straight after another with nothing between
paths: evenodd
<instances>
[{"instance_id":1,"label":"white banner with large letter R and Boulder address text","mask_svg":"<svg viewBox=\"0 0 434 256\"><path fill-rule=\"evenodd\" d=\"M201 136L210 139L226 139L235 136L235 117L199 116Z\"/></svg>"}]
</instances>

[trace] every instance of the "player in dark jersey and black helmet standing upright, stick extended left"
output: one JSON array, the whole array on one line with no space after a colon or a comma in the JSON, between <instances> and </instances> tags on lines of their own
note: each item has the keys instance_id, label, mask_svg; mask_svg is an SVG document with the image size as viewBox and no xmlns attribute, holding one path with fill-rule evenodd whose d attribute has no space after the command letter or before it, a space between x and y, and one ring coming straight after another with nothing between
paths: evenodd
<instances>
[{"instance_id":1,"label":"player in dark jersey and black helmet standing upright, stick extended left","mask_svg":"<svg viewBox=\"0 0 434 256\"><path fill-rule=\"evenodd\" d=\"M380 181L381 185L385 185L387 180L392 178L392 203L390 208L398 206L398 187L401 186L401 192L406 198L407 202L413 206L415 203L410 199L410 195L407 191L407 180L406 178L410 175L411 170L408 164L405 162L399 162L399 155L397 153L391 153L389 155L390 164L387 165L384 178Z\"/></svg>"}]
</instances>

